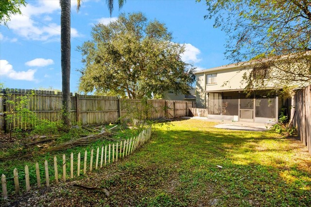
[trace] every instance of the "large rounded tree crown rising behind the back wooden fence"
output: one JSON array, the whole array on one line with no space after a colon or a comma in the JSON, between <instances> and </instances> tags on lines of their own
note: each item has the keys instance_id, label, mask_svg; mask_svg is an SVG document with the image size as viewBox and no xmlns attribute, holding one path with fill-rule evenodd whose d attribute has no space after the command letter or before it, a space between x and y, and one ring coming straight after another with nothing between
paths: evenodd
<instances>
[{"instance_id":1,"label":"large rounded tree crown rising behind the back wooden fence","mask_svg":"<svg viewBox=\"0 0 311 207\"><path fill-rule=\"evenodd\" d=\"M121 14L91 34L78 47L85 64L79 90L128 98L162 96L169 89L189 93L194 68L181 60L185 46L172 42L165 24L141 13Z\"/></svg>"}]
</instances>

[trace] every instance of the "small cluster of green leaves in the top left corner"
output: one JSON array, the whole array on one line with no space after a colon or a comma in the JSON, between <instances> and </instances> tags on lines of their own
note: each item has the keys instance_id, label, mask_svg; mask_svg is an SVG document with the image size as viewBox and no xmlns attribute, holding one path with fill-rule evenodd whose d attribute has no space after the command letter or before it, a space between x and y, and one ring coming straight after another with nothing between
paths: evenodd
<instances>
[{"instance_id":1,"label":"small cluster of green leaves in the top left corner","mask_svg":"<svg viewBox=\"0 0 311 207\"><path fill-rule=\"evenodd\" d=\"M10 21L11 16L21 14L21 6L26 6L25 0L1 0L0 23L6 25Z\"/></svg>"}]
</instances>

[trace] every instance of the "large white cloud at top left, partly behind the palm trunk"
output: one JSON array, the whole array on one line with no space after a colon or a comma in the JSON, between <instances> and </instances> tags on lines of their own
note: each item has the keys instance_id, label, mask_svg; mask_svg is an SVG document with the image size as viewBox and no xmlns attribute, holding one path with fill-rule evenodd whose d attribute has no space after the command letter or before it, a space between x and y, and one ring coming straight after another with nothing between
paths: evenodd
<instances>
[{"instance_id":1,"label":"large white cloud at top left, partly behind the palm trunk","mask_svg":"<svg viewBox=\"0 0 311 207\"><path fill-rule=\"evenodd\" d=\"M40 21L51 21L47 16L60 11L59 0L36 1L37 4L28 3L26 7L21 8L22 15L14 15L8 22L8 27L15 33L30 40L39 41L59 41L60 25L56 23L42 24ZM76 0L71 1L72 6L76 6ZM78 31L71 28L71 36L80 36Z\"/></svg>"}]
</instances>

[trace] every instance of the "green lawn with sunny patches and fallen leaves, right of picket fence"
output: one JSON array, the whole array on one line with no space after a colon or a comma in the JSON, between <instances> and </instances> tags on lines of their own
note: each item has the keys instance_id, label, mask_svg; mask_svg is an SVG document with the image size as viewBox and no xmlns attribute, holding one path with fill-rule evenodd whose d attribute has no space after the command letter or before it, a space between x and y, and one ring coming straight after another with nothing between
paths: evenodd
<instances>
[{"instance_id":1,"label":"green lawn with sunny patches and fallen leaves, right of picket fence","mask_svg":"<svg viewBox=\"0 0 311 207\"><path fill-rule=\"evenodd\" d=\"M157 127L151 141L133 155L77 181L105 188L110 197L69 182L39 191L30 202L121 207L311 205L311 156L299 141L272 132L217 129L215 123L201 120L172 123Z\"/></svg>"}]
</instances>

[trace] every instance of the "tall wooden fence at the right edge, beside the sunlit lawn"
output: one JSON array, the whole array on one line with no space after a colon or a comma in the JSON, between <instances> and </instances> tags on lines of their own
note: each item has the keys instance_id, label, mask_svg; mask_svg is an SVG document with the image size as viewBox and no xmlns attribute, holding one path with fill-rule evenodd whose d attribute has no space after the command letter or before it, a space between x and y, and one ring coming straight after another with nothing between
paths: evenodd
<instances>
[{"instance_id":1,"label":"tall wooden fence at the right edge, beside the sunlit lawn","mask_svg":"<svg viewBox=\"0 0 311 207\"><path fill-rule=\"evenodd\" d=\"M296 91L294 101L294 126L301 142L311 154L311 85Z\"/></svg>"}]
</instances>

